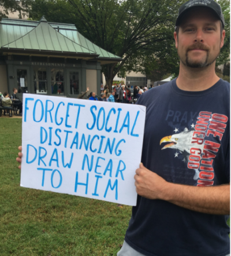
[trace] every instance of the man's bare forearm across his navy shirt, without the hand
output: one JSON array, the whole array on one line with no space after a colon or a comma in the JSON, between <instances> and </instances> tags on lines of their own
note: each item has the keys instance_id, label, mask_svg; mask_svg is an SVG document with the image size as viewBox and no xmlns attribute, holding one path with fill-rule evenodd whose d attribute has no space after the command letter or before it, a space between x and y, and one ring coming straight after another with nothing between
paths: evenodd
<instances>
[{"instance_id":1,"label":"man's bare forearm across his navy shirt, without the hand","mask_svg":"<svg viewBox=\"0 0 231 256\"><path fill-rule=\"evenodd\" d=\"M198 187L167 182L161 199L200 213L230 213L230 185Z\"/></svg>"}]
</instances>

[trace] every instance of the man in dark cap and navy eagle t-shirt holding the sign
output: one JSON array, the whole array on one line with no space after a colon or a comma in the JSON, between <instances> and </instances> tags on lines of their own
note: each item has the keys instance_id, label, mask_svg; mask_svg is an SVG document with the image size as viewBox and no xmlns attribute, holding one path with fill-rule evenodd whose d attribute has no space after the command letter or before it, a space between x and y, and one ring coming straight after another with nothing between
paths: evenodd
<instances>
[{"instance_id":1,"label":"man in dark cap and navy eagle t-shirt holding the sign","mask_svg":"<svg viewBox=\"0 0 231 256\"><path fill-rule=\"evenodd\" d=\"M215 74L223 27L214 1L179 10L179 76L137 102L147 107L138 198L118 256L230 253L230 85Z\"/></svg>"}]
</instances>

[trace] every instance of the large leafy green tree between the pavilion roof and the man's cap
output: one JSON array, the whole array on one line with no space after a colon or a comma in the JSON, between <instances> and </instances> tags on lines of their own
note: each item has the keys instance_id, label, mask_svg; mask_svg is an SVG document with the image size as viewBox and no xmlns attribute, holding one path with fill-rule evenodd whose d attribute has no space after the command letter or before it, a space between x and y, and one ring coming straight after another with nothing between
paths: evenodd
<instances>
[{"instance_id":1,"label":"large leafy green tree between the pavilion roof and the man's cap","mask_svg":"<svg viewBox=\"0 0 231 256\"><path fill-rule=\"evenodd\" d=\"M172 44L182 0L34 0L30 17L74 23L90 41L124 59L103 65L107 84L124 71L140 71L148 56ZM170 29L171 28L171 29Z\"/></svg>"}]
</instances>

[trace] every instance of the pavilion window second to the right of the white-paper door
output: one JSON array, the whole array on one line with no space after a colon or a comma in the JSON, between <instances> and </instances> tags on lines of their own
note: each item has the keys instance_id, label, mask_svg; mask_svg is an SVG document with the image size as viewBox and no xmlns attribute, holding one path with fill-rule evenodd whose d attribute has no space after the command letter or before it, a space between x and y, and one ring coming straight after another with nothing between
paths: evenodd
<instances>
[{"instance_id":1,"label":"pavilion window second to the right of the white-paper door","mask_svg":"<svg viewBox=\"0 0 231 256\"><path fill-rule=\"evenodd\" d=\"M51 69L51 93L64 94L64 70L60 68Z\"/></svg>"}]
</instances>

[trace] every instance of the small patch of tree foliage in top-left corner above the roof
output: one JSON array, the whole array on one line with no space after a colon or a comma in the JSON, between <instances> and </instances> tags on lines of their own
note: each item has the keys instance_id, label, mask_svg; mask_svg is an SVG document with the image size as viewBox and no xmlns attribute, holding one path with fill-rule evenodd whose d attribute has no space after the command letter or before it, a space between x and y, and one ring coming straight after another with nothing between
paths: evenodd
<instances>
[{"instance_id":1,"label":"small patch of tree foliage in top-left corner above the roof","mask_svg":"<svg viewBox=\"0 0 231 256\"><path fill-rule=\"evenodd\" d=\"M28 13L28 6L31 0L0 0L0 20L7 18L9 12L18 12L18 17L22 19Z\"/></svg>"}]
</instances>

